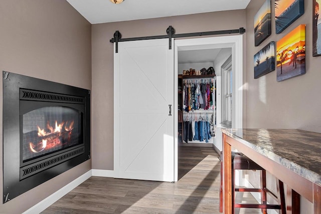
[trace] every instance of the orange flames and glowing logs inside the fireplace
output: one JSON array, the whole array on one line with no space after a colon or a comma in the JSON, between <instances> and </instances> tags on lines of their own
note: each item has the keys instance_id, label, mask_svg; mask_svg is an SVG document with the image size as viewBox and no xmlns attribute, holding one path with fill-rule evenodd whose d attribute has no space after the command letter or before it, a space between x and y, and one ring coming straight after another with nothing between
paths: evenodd
<instances>
[{"instance_id":1,"label":"orange flames and glowing logs inside the fireplace","mask_svg":"<svg viewBox=\"0 0 321 214\"><path fill-rule=\"evenodd\" d=\"M64 124L65 124L64 121L58 124L56 120L55 128L54 128L50 126L48 121L47 128L49 132L46 132L45 129L41 129L39 126L37 126L39 141L36 145L33 142L29 143L31 151L34 153L38 153L45 149L53 148L56 145L61 144L62 138L67 139L69 141L71 137L71 130L74 127L74 121L70 122L69 125L67 125L68 124L68 121L67 121L64 128L65 132L61 132Z\"/></svg>"}]
</instances>

